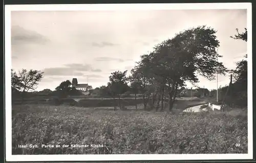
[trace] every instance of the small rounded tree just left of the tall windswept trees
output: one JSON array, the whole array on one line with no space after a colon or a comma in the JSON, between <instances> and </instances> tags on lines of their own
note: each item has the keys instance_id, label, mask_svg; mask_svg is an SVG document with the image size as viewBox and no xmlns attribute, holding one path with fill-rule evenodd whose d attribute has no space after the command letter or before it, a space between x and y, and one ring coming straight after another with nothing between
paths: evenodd
<instances>
[{"instance_id":1,"label":"small rounded tree just left of the tall windswept trees","mask_svg":"<svg viewBox=\"0 0 256 163\"><path fill-rule=\"evenodd\" d=\"M126 73L127 70L124 72L115 71L111 73L111 76L109 76L110 82L108 83L108 88L112 97L114 98L114 101L115 96L118 96L120 109L122 109L120 95L128 90Z\"/></svg>"}]
</instances>

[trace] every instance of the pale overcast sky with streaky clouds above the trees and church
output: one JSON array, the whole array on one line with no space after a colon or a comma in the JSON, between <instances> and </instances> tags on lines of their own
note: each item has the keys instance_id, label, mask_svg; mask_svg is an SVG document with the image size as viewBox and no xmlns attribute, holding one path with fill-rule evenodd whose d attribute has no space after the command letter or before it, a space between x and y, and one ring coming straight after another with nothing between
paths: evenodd
<instances>
[{"instance_id":1,"label":"pale overcast sky with streaky clouds above the trees and church","mask_svg":"<svg viewBox=\"0 0 256 163\"><path fill-rule=\"evenodd\" d=\"M93 88L106 85L116 70L128 70L152 47L182 30L207 25L217 32L220 61L229 68L246 54L246 42L229 36L246 28L246 10L12 11L12 68L44 71L38 90L54 90L78 79ZM216 80L199 77L200 87ZM229 76L219 76L219 86ZM188 87L191 87L188 84Z\"/></svg>"}]
</instances>

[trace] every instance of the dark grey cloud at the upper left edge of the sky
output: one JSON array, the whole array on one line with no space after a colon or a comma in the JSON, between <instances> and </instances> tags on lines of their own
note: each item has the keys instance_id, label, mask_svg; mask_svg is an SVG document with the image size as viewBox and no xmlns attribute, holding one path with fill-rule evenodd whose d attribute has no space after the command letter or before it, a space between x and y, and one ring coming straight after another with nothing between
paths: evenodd
<instances>
[{"instance_id":1,"label":"dark grey cloud at the upper left edge of the sky","mask_svg":"<svg viewBox=\"0 0 256 163\"><path fill-rule=\"evenodd\" d=\"M26 30L18 25L12 26L11 28L11 44L19 43L36 43L45 44L50 41L45 36L31 30Z\"/></svg>"}]
</instances>

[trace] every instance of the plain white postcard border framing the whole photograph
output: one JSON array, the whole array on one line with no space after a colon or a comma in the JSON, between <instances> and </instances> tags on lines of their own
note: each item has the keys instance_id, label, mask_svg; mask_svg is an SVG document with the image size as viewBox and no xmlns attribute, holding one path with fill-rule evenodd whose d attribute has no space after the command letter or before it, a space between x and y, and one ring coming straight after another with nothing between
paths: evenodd
<instances>
[{"instance_id":1,"label":"plain white postcard border framing the whole photograph","mask_svg":"<svg viewBox=\"0 0 256 163\"><path fill-rule=\"evenodd\" d=\"M247 9L248 55L248 154L113 154L113 155L12 155L11 120L11 11L77 10L199 10ZM252 159L252 16L251 3L211 4L83 4L83 5L5 5L5 129L7 161L89 161L89 160L195 160Z\"/></svg>"}]
</instances>

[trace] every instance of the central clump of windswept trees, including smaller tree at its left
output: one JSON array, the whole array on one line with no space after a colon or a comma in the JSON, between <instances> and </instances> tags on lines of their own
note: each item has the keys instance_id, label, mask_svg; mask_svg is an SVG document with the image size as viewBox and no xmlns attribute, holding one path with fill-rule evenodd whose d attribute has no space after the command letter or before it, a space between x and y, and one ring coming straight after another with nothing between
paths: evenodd
<instances>
[{"instance_id":1,"label":"central clump of windswept trees, including smaller tree at its left","mask_svg":"<svg viewBox=\"0 0 256 163\"><path fill-rule=\"evenodd\" d=\"M156 45L152 52L142 55L129 77L126 77L127 71L113 72L108 85L101 89L113 98L117 95L120 99L120 94L130 85L135 95L139 91L143 94L144 108L153 94L152 108L156 107L158 110L161 99L163 110L163 101L167 97L170 111L177 97L177 90L184 87L185 82L198 83L198 75L209 80L215 79L217 67L219 74L225 75L227 72L223 63L217 60L219 41L215 36L216 32L206 26L180 32L174 38Z\"/></svg>"}]
</instances>

